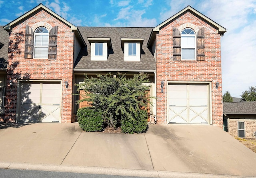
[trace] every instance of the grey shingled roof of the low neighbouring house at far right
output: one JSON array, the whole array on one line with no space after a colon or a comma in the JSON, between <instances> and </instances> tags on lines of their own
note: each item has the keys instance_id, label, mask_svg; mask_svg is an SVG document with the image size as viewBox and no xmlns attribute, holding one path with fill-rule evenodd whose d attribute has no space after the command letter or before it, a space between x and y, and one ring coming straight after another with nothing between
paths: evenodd
<instances>
[{"instance_id":1,"label":"grey shingled roof of the low neighbouring house at far right","mask_svg":"<svg viewBox=\"0 0 256 178\"><path fill-rule=\"evenodd\" d=\"M256 114L256 101L224 102L223 114Z\"/></svg>"}]
</instances>

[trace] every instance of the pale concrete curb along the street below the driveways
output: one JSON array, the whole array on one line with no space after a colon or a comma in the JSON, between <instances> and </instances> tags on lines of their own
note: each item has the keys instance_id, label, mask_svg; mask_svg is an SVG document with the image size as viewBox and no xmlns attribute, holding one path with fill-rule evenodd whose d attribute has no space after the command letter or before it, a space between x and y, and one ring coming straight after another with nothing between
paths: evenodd
<instances>
[{"instance_id":1,"label":"pale concrete curb along the street below the driveways","mask_svg":"<svg viewBox=\"0 0 256 178\"><path fill-rule=\"evenodd\" d=\"M104 167L85 167L55 164L33 164L33 163L16 163L16 162L0 162L0 168L4 169L20 169L20 170L42 170L54 172L76 172L86 174L107 174L118 176L138 176L152 178L248 178L248 176L229 176L218 174L201 174L190 172L172 172L157 170L134 170L122 168L104 168Z\"/></svg>"}]
</instances>

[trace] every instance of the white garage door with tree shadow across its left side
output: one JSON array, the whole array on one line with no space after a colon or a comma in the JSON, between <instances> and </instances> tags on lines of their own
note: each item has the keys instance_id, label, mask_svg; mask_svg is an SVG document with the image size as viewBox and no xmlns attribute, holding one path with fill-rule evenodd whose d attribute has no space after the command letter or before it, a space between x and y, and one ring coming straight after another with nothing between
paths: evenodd
<instances>
[{"instance_id":1,"label":"white garage door with tree shadow across its left side","mask_svg":"<svg viewBox=\"0 0 256 178\"><path fill-rule=\"evenodd\" d=\"M60 121L60 82L23 82L20 88L20 122Z\"/></svg>"}]
</instances>

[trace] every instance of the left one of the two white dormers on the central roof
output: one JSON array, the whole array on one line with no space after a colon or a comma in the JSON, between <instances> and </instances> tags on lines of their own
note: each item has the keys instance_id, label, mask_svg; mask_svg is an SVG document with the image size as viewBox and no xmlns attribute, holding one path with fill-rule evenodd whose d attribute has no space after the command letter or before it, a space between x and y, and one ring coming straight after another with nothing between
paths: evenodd
<instances>
[{"instance_id":1,"label":"left one of the two white dormers on the central roof","mask_svg":"<svg viewBox=\"0 0 256 178\"><path fill-rule=\"evenodd\" d=\"M107 60L110 38L87 38L91 44L91 60Z\"/></svg>"}]
</instances>

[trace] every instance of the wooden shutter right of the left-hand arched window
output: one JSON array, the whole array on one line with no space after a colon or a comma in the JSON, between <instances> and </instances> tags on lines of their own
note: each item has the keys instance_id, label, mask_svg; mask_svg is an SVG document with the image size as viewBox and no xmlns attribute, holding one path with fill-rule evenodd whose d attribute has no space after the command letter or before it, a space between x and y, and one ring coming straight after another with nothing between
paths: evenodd
<instances>
[{"instance_id":1,"label":"wooden shutter right of the left-hand arched window","mask_svg":"<svg viewBox=\"0 0 256 178\"><path fill-rule=\"evenodd\" d=\"M54 26L49 32L48 59L57 58L57 34L58 34L58 26Z\"/></svg>"}]
</instances>

